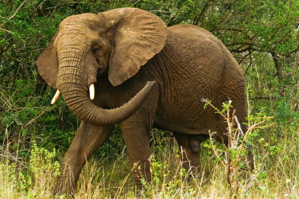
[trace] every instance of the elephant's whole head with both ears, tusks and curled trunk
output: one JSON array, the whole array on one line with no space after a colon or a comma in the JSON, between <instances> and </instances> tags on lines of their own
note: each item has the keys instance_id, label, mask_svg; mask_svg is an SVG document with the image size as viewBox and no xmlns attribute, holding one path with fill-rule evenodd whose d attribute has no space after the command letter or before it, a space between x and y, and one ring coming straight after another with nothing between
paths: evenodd
<instances>
[{"instance_id":1,"label":"elephant's whole head with both ears, tusks and curled trunk","mask_svg":"<svg viewBox=\"0 0 299 199\"><path fill-rule=\"evenodd\" d=\"M124 121L141 106L154 82L148 82L123 106L102 109L91 101L97 77L108 73L113 86L122 84L163 48L165 40L165 23L137 8L72 15L61 22L36 64L43 79L59 90L58 97L61 91L80 120L112 125Z\"/></svg>"}]
</instances>

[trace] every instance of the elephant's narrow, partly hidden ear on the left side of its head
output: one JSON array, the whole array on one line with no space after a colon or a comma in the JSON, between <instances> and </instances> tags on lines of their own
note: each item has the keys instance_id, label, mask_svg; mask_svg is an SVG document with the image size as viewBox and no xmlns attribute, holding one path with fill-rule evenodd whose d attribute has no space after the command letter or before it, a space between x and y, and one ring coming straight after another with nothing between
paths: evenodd
<instances>
[{"instance_id":1,"label":"elephant's narrow, partly hidden ear on the left side of its head","mask_svg":"<svg viewBox=\"0 0 299 199\"><path fill-rule=\"evenodd\" d=\"M54 47L54 41L57 34L58 31L48 44L47 48L36 60L36 65L40 76L47 82L49 86L55 89L57 89L56 82L59 67L58 56Z\"/></svg>"}]
</instances>

